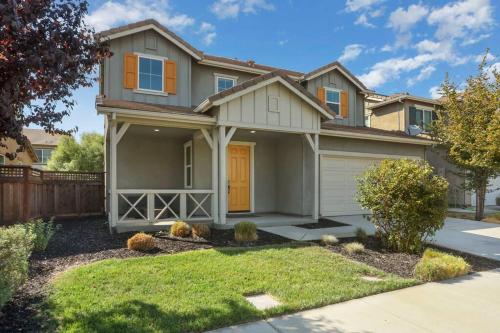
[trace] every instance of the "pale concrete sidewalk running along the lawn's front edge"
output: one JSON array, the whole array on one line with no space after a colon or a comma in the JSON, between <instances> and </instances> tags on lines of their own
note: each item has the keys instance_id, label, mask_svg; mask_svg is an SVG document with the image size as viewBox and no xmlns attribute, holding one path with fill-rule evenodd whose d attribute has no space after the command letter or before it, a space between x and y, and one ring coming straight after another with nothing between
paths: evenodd
<instances>
[{"instance_id":1,"label":"pale concrete sidewalk running along the lawn's front edge","mask_svg":"<svg viewBox=\"0 0 500 333\"><path fill-rule=\"evenodd\" d=\"M217 333L500 331L500 270L219 329Z\"/></svg>"}]
</instances>

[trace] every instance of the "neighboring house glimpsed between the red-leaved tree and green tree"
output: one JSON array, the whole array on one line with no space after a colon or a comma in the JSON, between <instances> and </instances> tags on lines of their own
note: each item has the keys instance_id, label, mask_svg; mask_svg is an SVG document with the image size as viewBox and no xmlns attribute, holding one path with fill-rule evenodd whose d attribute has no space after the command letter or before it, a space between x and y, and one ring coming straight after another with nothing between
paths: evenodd
<instances>
[{"instance_id":1,"label":"neighboring house glimpsed between the red-leaved tree and green tree","mask_svg":"<svg viewBox=\"0 0 500 333\"><path fill-rule=\"evenodd\" d=\"M23 134L26 135L31 142L33 150L38 157L38 162L34 163L33 166L39 169L45 169L52 152L56 149L63 135L50 134L43 129L33 128L23 129Z\"/></svg>"}]
</instances>

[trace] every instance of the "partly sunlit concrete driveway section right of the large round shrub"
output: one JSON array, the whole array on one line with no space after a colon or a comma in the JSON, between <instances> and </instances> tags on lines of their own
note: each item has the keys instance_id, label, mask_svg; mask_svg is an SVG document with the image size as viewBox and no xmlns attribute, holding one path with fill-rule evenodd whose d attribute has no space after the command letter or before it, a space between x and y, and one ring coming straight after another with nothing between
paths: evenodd
<instances>
[{"instance_id":1,"label":"partly sunlit concrete driveway section right of the large round shrub","mask_svg":"<svg viewBox=\"0 0 500 333\"><path fill-rule=\"evenodd\" d=\"M448 217L433 242L450 249L500 260L500 224Z\"/></svg>"}]
</instances>

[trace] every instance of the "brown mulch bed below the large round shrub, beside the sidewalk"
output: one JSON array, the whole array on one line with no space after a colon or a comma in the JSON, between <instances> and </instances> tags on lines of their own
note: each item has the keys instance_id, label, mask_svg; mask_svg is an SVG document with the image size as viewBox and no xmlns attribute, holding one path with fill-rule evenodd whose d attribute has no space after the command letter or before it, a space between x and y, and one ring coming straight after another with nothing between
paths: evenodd
<instances>
[{"instance_id":1,"label":"brown mulch bed below the large round shrub, beside the sidewalk","mask_svg":"<svg viewBox=\"0 0 500 333\"><path fill-rule=\"evenodd\" d=\"M343 239L341 243L333 246L326 246L335 253L340 253L350 259L365 263L376 267L388 273L393 273L402 277L413 277L415 265L420 260L420 254L408 254L401 252L391 252L384 249L380 241L375 237L369 237L364 243L365 251L362 253L347 253L342 244L355 241L355 239ZM462 253L455 250L445 249L432 245L431 247L458 255L464 258L475 272L486 271L490 269L500 268L500 262L488 258L478 257L467 253Z\"/></svg>"}]
</instances>

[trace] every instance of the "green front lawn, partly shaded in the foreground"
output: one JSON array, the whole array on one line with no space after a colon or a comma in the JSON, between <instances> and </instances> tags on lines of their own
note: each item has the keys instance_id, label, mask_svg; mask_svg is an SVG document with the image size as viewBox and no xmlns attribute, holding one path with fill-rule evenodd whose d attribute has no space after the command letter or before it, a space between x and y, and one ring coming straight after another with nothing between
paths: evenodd
<instances>
[{"instance_id":1,"label":"green front lawn, partly shaded in the foreground","mask_svg":"<svg viewBox=\"0 0 500 333\"><path fill-rule=\"evenodd\" d=\"M192 332L416 283L318 246L198 250L70 270L54 280L48 312L63 332ZM256 310L243 295L260 292L283 305Z\"/></svg>"}]
</instances>

